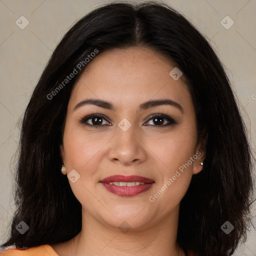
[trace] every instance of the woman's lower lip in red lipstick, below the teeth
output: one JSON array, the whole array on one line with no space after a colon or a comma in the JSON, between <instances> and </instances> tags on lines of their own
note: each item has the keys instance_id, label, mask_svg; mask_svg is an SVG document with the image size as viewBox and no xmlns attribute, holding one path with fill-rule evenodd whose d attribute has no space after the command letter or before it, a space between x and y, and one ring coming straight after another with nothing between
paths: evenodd
<instances>
[{"instance_id":1,"label":"woman's lower lip in red lipstick, below the teeth","mask_svg":"<svg viewBox=\"0 0 256 256\"><path fill-rule=\"evenodd\" d=\"M113 194L120 195L120 196L133 196L148 190L153 185L154 182L146 183L144 185L137 185L137 186L117 186L117 185L108 184L104 182L101 182L101 183L106 190L108 190Z\"/></svg>"}]
</instances>

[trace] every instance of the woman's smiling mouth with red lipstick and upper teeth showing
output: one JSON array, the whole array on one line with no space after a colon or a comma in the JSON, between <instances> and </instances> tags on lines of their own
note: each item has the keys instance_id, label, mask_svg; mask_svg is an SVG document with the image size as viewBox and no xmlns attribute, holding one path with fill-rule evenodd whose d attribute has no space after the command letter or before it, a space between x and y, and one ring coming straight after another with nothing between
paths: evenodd
<instances>
[{"instance_id":1,"label":"woman's smiling mouth with red lipstick and upper teeth showing","mask_svg":"<svg viewBox=\"0 0 256 256\"><path fill-rule=\"evenodd\" d=\"M154 183L152 179L137 175L112 175L100 181L111 193L120 196L133 196L148 190Z\"/></svg>"}]
</instances>

